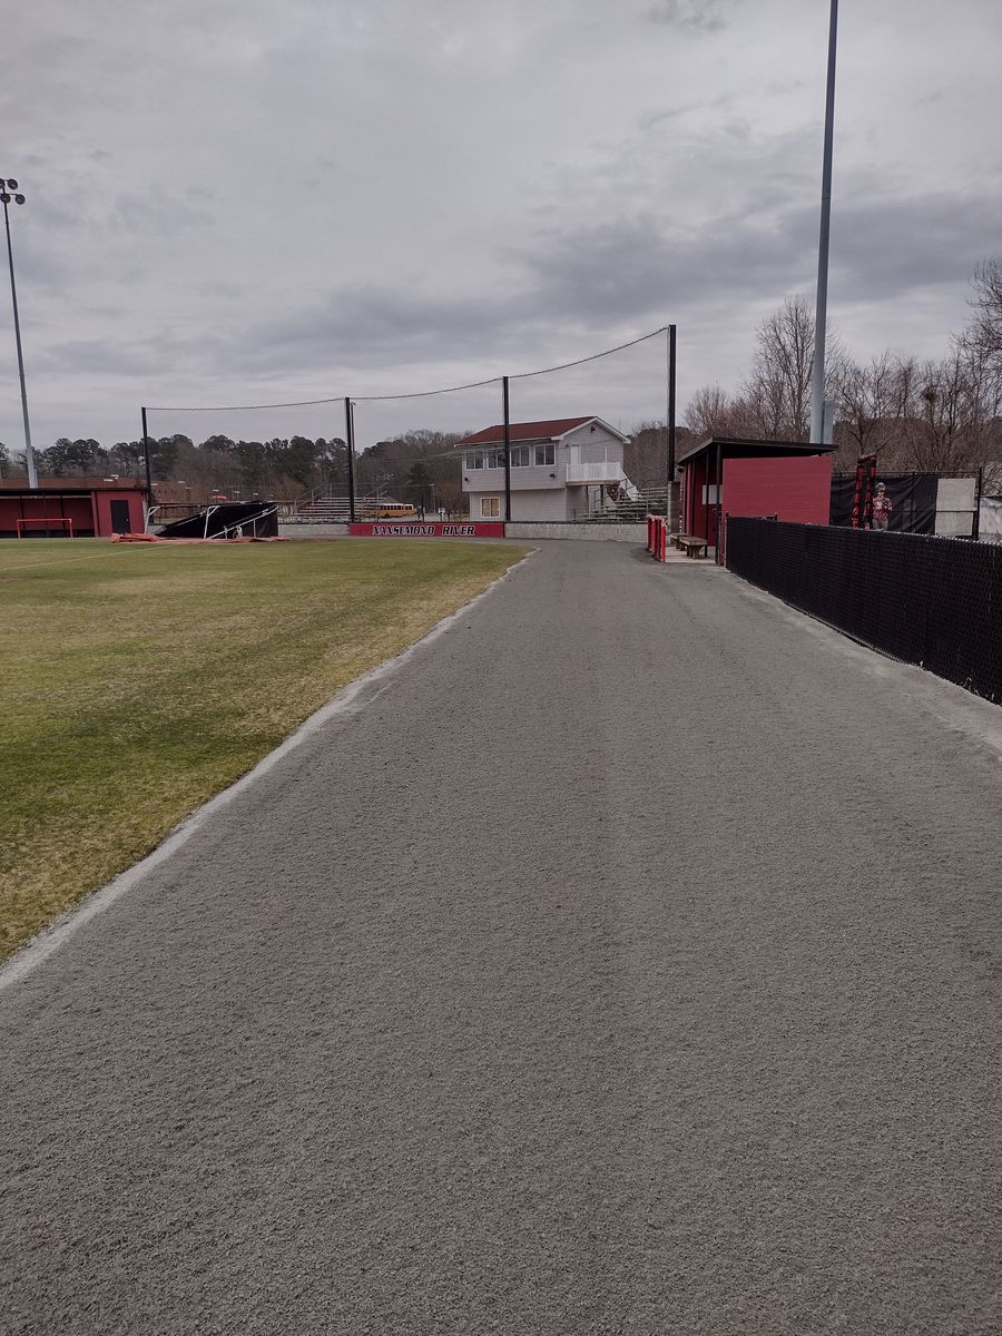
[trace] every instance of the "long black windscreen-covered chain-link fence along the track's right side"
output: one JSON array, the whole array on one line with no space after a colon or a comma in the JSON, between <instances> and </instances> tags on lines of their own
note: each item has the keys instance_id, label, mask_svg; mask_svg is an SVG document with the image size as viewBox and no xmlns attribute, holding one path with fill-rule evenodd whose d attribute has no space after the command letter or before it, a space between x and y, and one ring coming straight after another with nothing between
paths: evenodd
<instances>
[{"instance_id":1,"label":"long black windscreen-covered chain-link fence along the track's right side","mask_svg":"<svg viewBox=\"0 0 1002 1336\"><path fill-rule=\"evenodd\" d=\"M729 516L727 565L874 649L1002 701L1002 548Z\"/></svg>"}]
</instances>

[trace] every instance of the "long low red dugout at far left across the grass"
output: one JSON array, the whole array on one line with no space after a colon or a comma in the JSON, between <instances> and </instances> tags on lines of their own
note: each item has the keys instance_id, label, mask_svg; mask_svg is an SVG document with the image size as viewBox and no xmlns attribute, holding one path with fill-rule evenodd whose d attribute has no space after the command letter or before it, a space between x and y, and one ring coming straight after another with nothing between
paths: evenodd
<instances>
[{"instance_id":1,"label":"long low red dugout at far left across the grass","mask_svg":"<svg viewBox=\"0 0 1002 1336\"><path fill-rule=\"evenodd\" d=\"M0 481L0 538L110 538L146 528L139 478L27 478Z\"/></svg>"}]
</instances>

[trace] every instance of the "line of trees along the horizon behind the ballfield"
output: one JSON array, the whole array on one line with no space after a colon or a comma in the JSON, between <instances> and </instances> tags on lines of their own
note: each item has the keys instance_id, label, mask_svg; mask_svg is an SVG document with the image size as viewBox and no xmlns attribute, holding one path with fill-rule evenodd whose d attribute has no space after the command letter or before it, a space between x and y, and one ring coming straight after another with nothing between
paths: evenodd
<instances>
[{"instance_id":1,"label":"line of trees along the horizon behind the ballfield","mask_svg":"<svg viewBox=\"0 0 1002 1336\"><path fill-rule=\"evenodd\" d=\"M939 359L886 350L855 361L828 335L826 398L834 403L836 468L875 454L886 472L966 470L985 466L989 486L1002 489L1002 258L986 261L971 281L971 318ZM708 436L807 441L814 367L814 310L804 297L787 298L759 326L749 371L735 393L704 385L679 426L683 453ZM355 458L359 497L391 496L433 509L462 506L456 445L469 432L414 429L362 450ZM643 421L624 448L627 476L640 488L664 486L667 428ZM104 449L91 438L60 437L37 450L41 473L146 476L142 441ZM341 437L269 441L210 436L151 438L155 482L182 484L192 500L212 492L294 500L313 490L347 490L347 446ZM24 456L0 445L0 474L24 472Z\"/></svg>"}]
</instances>

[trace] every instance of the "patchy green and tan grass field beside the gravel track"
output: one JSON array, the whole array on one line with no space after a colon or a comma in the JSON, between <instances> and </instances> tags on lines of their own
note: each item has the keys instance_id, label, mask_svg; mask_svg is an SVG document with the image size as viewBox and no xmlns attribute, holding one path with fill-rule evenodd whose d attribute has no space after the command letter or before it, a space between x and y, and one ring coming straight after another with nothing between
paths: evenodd
<instances>
[{"instance_id":1,"label":"patchy green and tan grass field beside the gravel track","mask_svg":"<svg viewBox=\"0 0 1002 1336\"><path fill-rule=\"evenodd\" d=\"M0 957L524 550L0 542Z\"/></svg>"}]
</instances>

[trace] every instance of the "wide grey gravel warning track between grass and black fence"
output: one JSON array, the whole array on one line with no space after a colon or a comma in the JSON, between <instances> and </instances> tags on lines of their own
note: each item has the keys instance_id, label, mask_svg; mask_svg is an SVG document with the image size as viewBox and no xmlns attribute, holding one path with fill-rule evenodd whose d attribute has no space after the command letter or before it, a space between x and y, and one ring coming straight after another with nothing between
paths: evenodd
<instances>
[{"instance_id":1,"label":"wide grey gravel warning track between grass and black fence","mask_svg":"<svg viewBox=\"0 0 1002 1336\"><path fill-rule=\"evenodd\" d=\"M998 1332L999 717L544 545L0 991L0 1325Z\"/></svg>"}]
</instances>

